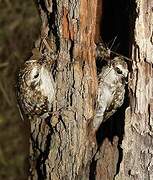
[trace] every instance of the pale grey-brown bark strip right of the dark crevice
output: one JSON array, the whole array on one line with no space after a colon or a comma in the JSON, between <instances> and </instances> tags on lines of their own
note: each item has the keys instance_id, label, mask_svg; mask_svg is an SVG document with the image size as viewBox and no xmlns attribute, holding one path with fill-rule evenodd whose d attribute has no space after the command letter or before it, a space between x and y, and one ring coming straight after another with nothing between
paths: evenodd
<instances>
[{"instance_id":1,"label":"pale grey-brown bark strip right of the dark crevice","mask_svg":"<svg viewBox=\"0 0 153 180\"><path fill-rule=\"evenodd\" d=\"M123 159L116 180L153 179L152 6L152 0L136 0L133 62L129 76L131 107L126 110ZM134 16L132 18L134 20Z\"/></svg>"}]
</instances>

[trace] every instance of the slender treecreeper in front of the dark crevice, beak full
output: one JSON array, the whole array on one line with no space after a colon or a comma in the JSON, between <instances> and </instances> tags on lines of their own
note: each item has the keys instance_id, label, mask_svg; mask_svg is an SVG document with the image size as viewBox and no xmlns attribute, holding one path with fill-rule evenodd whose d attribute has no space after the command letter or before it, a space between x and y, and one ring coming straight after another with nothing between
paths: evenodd
<instances>
[{"instance_id":1,"label":"slender treecreeper in front of the dark crevice, beak full","mask_svg":"<svg viewBox=\"0 0 153 180\"><path fill-rule=\"evenodd\" d=\"M125 97L125 85L128 76L128 66L123 56L111 59L110 51L103 48L102 44L97 48L97 57L107 63L102 66L98 74L98 88L96 97L96 109L93 127L98 129L101 123L109 119L119 107L122 106Z\"/></svg>"}]
</instances>

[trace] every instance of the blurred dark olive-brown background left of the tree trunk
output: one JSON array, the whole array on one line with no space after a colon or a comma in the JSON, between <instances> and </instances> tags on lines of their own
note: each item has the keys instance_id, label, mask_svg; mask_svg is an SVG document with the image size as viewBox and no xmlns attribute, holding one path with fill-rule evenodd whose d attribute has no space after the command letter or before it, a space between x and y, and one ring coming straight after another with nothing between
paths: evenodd
<instances>
[{"instance_id":1,"label":"blurred dark olive-brown background left of the tree trunk","mask_svg":"<svg viewBox=\"0 0 153 180\"><path fill-rule=\"evenodd\" d=\"M28 123L20 118L16 74L40 32L33 0L0 0L0 179L26 180Z\"/></svg>"}]
</instances>

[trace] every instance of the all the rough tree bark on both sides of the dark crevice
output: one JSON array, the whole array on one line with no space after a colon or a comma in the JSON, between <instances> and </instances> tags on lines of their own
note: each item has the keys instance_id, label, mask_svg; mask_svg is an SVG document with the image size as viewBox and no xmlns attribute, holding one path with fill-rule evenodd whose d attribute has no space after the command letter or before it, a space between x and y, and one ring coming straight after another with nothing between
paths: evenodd
<instances>
[{"instance_id":1,"label":"all the rough tree bark on both sides of the dark crevice","mask_svg":"<svg viewBox=\"0 0 153 180\"><path fill-rule=\"evenodd\" d=\"M138 14L135 27L131 26L134 61L129 63L131 104L126 110L123 157L118 145L122 138L103 137L99 143L97 136L103 134L105 127L97 134L91 126L97 87L95 41L101 34L103 15L101 2L36 1L42 18L41 39L47 41L49 49L54 49L58 60L54 65L53 114L45 121L31 121L29 179L153 179L151 0L135 2Z\"/></svg>"}]
</instances>

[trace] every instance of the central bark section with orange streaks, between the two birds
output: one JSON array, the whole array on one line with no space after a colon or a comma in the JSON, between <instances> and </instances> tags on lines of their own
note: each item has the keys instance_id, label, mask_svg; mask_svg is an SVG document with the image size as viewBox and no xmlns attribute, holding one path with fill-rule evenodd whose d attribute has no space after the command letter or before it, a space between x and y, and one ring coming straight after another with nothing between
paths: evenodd
<instances>
[{"instance_id":1,"label":"central bark section with orange streaks, between the two birds","mask_svg":"<svg viewBox=\"0 0 153 180\"><path fill-rule=\"evenodd\" d=\"M37 5L42 18L41 38L52 44L50 48L58 57L53 70L53 114L31 122L29 179L89 179L96 150L90 122L97 87L97 1L44 0Z\"/></svg>"}]
</instances>

